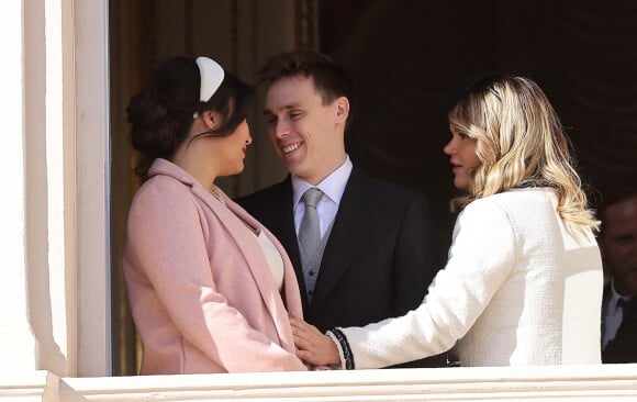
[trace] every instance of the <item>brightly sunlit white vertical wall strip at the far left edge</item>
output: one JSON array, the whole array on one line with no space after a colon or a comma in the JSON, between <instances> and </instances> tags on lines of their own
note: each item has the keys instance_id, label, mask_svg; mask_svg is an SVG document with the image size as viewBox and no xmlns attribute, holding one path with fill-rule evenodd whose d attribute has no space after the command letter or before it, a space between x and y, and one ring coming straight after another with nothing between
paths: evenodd
<instances>
[{"instance_id":1,"label":"brightly sunlit white vertical wall strip at the far left edge","mask_svg":"<svg viewBox=\"0 0 637 402\"><path fill-rule=\"evenodd\" d=\"M0 3L0 377L12 369L35 369L35 337L29 321L25 158L27 139L24 109L23 8L20 1Z\"/></svg>"}]
</instances>

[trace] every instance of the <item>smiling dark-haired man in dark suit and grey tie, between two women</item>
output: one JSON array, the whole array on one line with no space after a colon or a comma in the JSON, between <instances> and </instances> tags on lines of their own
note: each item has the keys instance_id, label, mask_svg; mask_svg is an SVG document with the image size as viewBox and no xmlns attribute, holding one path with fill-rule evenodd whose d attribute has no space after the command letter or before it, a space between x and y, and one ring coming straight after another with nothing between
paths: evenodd
<instances>
[{"instance_id":1,"label":"smiling dark-haired man in dark suit and grey tie, between two women","mask_svg":"<svg viewBox=\"0 0 637 402\"><path fill-rule=\"evenodd\" d=\"M286 247L305 320L324 332L416 308L438 269L427 201L365 175L349 159L344 141L351 105L347 71L323 54L293 52L272 56L260 75L268 85L268 136L290 175L237 201ZM314 206L304 193L315 188ZM311 209L320 236L315 252L305 252L299 238L310 225L304 220ZM445 362L442 355L407 367Z\"/></svg>"}]
</instances>

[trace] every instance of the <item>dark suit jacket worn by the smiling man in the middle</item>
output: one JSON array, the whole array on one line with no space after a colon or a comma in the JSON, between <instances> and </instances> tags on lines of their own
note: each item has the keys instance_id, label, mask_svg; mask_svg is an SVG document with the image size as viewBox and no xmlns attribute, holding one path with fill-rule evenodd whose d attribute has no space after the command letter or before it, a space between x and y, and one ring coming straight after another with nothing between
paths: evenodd
<instances>
[{"instance_id":1,"label":"dark suit jacket worn by the smiling man in the middle","mask_svg":"<svg viewBox=\"0 0 637 402\"><path fill-rule=\"evenodd\" d=\"M294 231L291 178L237 202L288 252L305 320L322 332L405 314L422 302L439 268L424 196L373 179L355 166L309 303ZM416 366L439 365L440 359Z\"/></svg>"}]
</instances>

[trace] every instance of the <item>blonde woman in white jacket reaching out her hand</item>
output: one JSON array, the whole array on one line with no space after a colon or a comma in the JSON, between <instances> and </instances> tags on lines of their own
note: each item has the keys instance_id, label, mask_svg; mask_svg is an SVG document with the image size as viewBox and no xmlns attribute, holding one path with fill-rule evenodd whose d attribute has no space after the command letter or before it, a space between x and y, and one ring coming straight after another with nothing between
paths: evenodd
<instances>
[{"instance_id":1,"label":"blonde woman in white jacket reaching out her hand","mask_svg":"<svg viewBox=\"0 0 637 402\"><path fill-rule=\"evenodd\" d=\"M298 356L347 369L452 348L462 366L600 364L602 260L569 156L539 87L491 76L449 112L454 185L466 196L448 263L406 315L321 334L292 320Z\"/></svg>"}]
</instances>

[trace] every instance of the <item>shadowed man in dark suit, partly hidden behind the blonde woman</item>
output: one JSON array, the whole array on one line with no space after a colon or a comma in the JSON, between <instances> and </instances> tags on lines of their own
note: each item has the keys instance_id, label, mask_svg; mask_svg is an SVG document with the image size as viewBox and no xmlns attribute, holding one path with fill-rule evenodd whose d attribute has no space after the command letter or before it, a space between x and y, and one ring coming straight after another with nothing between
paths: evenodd
<instances>
[{"instance_id":1,"label":"shadowed man in dark suit, partly hidden behind the blonde woman","mask_svg":"<svg viewBox=\"0 0 637 402\"><path fill-rule=\"evenodd\" d=\"M637 362L637 176L621 176L601 189L599 236L611 278L602 301L602 361Z\"/></svg>"}]
</instances>

